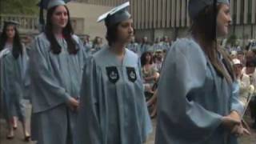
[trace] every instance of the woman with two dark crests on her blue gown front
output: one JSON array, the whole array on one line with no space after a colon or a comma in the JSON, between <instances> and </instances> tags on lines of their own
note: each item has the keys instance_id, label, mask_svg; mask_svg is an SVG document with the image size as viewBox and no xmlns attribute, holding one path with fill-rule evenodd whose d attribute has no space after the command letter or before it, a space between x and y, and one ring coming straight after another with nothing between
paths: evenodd
<instances>
[{"instance_id":1,"label":"woman with two dark crests on her blue gown front","mask_svg":"<svg viewBox=\"0 0 256 144\"><path fill-rule=\"evenodd\" d=\"M78 115L79 144L142 144L152 130L137 54L126 49L134 30L122 4L99 18L109 46L86 61Z\"/></svg>"}]
</instances>

